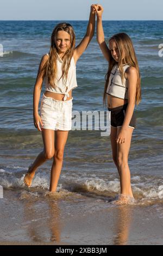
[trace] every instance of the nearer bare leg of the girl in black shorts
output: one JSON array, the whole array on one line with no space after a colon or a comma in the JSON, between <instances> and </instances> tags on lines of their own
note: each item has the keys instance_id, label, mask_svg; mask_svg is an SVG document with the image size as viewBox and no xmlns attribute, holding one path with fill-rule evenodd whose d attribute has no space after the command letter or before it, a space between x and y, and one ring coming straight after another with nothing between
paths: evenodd
<instances>
[{"instance_id":1,"label":"nearer bare leg of the girl in black shorts","mask_svg":"<svg viewBox=\"0 0 163 256\"><path fill-rule=\"evenodd\" d=\"M119 133L121 127L118 127L117 133ZM117 164L120 173L121 181L121 194L124 196L133 197L133 192L131 190L130 184L130 169L128 166L128 154L131 144L131 137L133 134L133 129L131 127L127 128L126 141L122 144L117 144Z\"/></svg>"}]
</instances>

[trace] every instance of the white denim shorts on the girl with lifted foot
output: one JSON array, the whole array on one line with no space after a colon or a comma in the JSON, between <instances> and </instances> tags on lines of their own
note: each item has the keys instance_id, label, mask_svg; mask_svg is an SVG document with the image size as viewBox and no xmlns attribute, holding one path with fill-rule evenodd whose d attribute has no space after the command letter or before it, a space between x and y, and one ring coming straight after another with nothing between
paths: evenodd
<instances>
[{"instance_id":1,"label":"white denim shorts on the girl with lifted foot","mask_svg":"<svg viewBox=\"0 0 163 256\"><path fill-rule=\"evenodd\" d=\"M73 98L72 98L73 99ZM43 129L70 131L72 126L72 99L61 101L46 97L41 100Z\"/></svg>"}]
</instances>

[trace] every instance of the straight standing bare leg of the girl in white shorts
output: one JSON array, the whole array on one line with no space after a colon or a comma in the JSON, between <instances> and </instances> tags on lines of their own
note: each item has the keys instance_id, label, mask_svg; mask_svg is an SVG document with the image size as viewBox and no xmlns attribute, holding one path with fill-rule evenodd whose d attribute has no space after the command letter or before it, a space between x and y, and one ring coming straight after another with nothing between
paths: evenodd
<instances>
[{"instance_id":1,"label":"straight standing bare leg of the girl in white shorts","mask_svg":"<svg viewBox=\"0 0 163 256\"><path fill-rule=\"evenodd\" d=\"M67 137L68 131L55 131L55 153L51 169L51 184L49 187L49 191L51 192L55 192L57 190Z\"/></svg>"}]
</instances>

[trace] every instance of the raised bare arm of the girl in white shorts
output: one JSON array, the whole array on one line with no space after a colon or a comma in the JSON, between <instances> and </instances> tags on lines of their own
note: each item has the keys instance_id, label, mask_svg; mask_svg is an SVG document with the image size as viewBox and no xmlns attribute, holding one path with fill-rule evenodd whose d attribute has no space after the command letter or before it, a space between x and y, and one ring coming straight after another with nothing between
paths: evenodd
<instances>
[{"instance_id":1,"label":"raised bare arm of the girl in white shorts","mask_svg":"<svg viewBox=\"0 0 163 256\"><path fill-rule=\"evenodd\" d=\"M90 18L89 23L87 25L86 34L80 44L75 48L74 50L74 61L75 63L80 58L80 56L83 54L83 52L86 50L86 47L89 45L94 33L95 33L95 19L96 19L96 12L93 8L93 4L91 5L91 11L90 11Z\"/></svg>"}]
</instances>

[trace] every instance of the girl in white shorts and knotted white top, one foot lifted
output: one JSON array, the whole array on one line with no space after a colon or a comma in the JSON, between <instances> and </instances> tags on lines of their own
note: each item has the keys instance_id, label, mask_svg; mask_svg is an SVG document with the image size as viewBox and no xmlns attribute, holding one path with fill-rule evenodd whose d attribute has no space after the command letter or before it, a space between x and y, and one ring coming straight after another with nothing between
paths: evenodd
<instances>
[{"instance_id":1,"label":"girl in white shorts and knotted white top, one foot lifted","mask_svg":"<svg viewBox=\"0 0 163 256\"><path fill-rule=\"evenodd\" d=\"M57 25L52 32L51 49L41 59L34 86L33 115L34 125L42 133L44 149L24 176L24 183L28 187L37 168L53 157L49 191L57 190L64 148L68 131L71 130L72 89L77 87L76 63L93 37L95 19L95 9L91 6L86 34L77 47L72 26L68 23ZM41 100L40 117L38 109L44 79L46 91Z\"/></svg>"}]
</instances>

